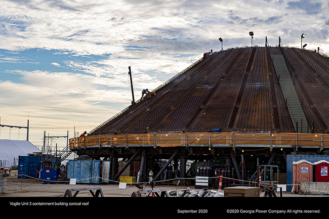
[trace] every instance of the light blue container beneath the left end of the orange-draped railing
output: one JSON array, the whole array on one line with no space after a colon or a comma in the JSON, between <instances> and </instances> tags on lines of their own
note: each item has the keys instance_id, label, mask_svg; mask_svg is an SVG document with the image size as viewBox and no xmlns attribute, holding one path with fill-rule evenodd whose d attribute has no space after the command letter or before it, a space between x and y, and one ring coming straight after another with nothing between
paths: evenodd
<instances>
[{"instance_id":1,"label":"light blue container beneath the left end of the orange-draped railing","mask_svg":"<svg viewBox=\"0 0 329 219\"><path fill-rule=\"evenodd\" d=\"M67 179L76 179L76 183L99 183L101 175L100 160L69 160Z\"/></svg>"}]
</instances>

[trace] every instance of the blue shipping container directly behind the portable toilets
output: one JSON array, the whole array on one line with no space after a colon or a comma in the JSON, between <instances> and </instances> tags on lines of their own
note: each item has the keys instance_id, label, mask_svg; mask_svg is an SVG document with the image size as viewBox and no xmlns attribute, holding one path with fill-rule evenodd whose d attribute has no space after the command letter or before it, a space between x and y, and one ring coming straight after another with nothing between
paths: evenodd
<instances>
[{"instance_id":1,"label":"blue shipping container directly behind the portable toilets","mask_svg":"<svg viewBox=\"0 0 329 219\"><path fill-rule=\"evenodd\" d=\"M311 163L315 163L320 160L329 161L329 156L327 155L287 155L286 156L286 174L287 174L287 191L292 191L293 189L293 163L299 160L307 160Z\"/></svg>"}]
</instances>

